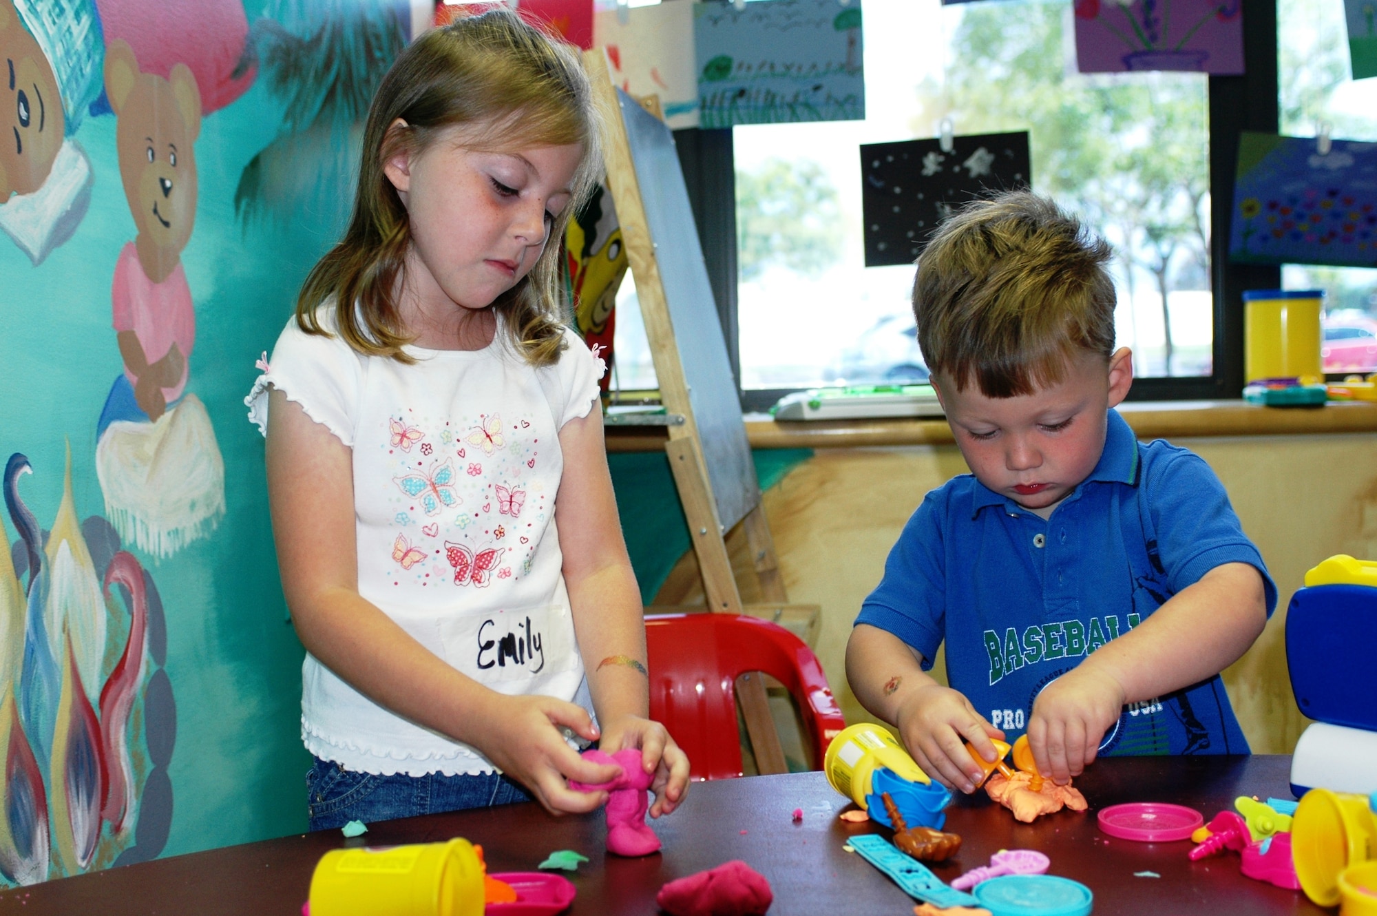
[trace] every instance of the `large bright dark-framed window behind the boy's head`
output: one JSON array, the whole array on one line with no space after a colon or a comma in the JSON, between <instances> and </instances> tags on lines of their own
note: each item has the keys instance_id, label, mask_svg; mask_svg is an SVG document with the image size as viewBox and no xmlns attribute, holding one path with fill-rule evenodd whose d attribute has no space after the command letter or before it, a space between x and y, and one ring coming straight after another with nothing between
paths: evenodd
<instances>
[{"instance_id":1,"label":"large bright dark-framed window behind the boy's head","mask_svg":"<svg viewBox=\"0 0 1377 916\"><path fill-rule=\"evenodd\" d=\"M1135 350L1133 397L1238 397L1241 291L1279 284L1276 269L1223 258L1238 132L1276 129L1271 4L1250 3L1245 14L1249 76L1205 77L1075 73L1064 0L862 1L866 120L735 128L730 256L715 256L722 240L700 226L715 287L734 293L719 307L744 405L925 373L909 304L913 267L863 267L858 145L935 136L945 116L960 135L1027 129L1034 189L1115 247L1117 331ZM628 314L633 296L625 284L622 388L653 377L649 358L631 361L643 344L622 343L639 320Z\"/></svg>"}]
</instances>

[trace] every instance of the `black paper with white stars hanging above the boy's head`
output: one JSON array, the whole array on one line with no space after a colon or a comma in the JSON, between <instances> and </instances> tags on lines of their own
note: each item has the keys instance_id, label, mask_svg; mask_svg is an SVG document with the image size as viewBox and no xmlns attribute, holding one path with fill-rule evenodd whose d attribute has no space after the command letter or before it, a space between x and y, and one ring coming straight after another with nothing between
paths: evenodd
<instances>
[{"instance_id":1,"label":"black paper with white stars hanging above the boy's head","mask_svg":"<svg viewBox=\"0 0 1377 916\"><path fill-rule=\"evenodd\" d=\"M954 208L1030 182L1027 132L862 145L865 266L912 264Z\"/></svg>"}]
</instances>

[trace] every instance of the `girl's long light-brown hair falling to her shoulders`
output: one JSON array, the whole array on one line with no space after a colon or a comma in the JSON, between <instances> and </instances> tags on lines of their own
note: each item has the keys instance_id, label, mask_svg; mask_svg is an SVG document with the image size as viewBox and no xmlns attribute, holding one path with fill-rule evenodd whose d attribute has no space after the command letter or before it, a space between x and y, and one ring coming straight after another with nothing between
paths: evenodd
<instances>
[{"instance_id":1,"label":"girl's long light-brown hair falling to her shoulders","mask_svg":"<svg viewBox=\"0 0 1377 916\"><path fill-rule=\"evenodd\" d=\"M405 125L392 124L401 118ZM570 185L573 200L549 227L530 273L493 302L526 362L543 366L563 350L559 255L565 227L591 193L600 169L592 91L578 52L508 10L493 10L432 29L406 47L383 77L364 128L354 212L344 237L302 284L296 322L329 336L318 310L336 307L336 326L354 350L412 362L412 342L394 291L403 275L410 223L383 164L401 152L425 150L450 127L475 129L468 149L582 146ZM343 303L357 303L355 309Z\"/></svg>"}]
</instances>

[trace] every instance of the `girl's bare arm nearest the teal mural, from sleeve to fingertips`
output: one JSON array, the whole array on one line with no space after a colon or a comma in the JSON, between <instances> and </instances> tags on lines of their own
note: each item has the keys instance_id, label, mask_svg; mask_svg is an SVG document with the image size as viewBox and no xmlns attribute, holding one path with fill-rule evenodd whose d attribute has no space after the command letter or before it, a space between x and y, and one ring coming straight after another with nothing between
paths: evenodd
<instances>
[{"instance_id":1,"label":"girl's bare arm nearest the teal mural, from sleeve to fingertips","mask_svg":"<svg viewBox=\"0 0 1377 916\"><path fill-rule=\"evenodd\" d=\"M282 591L307 652L392 712L490 758L494 749L501 756L504 749L492 745L493 723L507 725L514 698L459 672L358 594L351 452L280 391L270 395L267 479ZM541 712L551 722L596 737L574 704L540 700L547 701ZM523 712L527 722L538 722L532 709ZM565 744L556 727L540 731L525 753L541 758L543 773L554 767L588 782L609 778L606 767L582 760ZM589 800L598 802L567 788L538 792L547 807L566 811L591 810Z\"/></svg>"}]
</instances>

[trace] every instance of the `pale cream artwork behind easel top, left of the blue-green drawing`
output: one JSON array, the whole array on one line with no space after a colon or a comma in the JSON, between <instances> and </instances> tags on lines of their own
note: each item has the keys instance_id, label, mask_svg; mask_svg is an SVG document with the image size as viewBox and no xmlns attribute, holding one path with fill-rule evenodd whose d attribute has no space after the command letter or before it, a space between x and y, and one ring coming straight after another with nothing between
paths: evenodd
<instances>
[{"instance_id":1,"label":"pale cream artwork behind easel top, left of the blue-green drawing","mask_svg":"<svg viewBox=\"0 0 1377 916\"><path fill-rule=\"evenodd\" d=\"M607 50L611 76L622 91L658 95L671 128L698 127L693 0L665 0L593 15L593 45Z\"/></svg>"}]
</instances>

